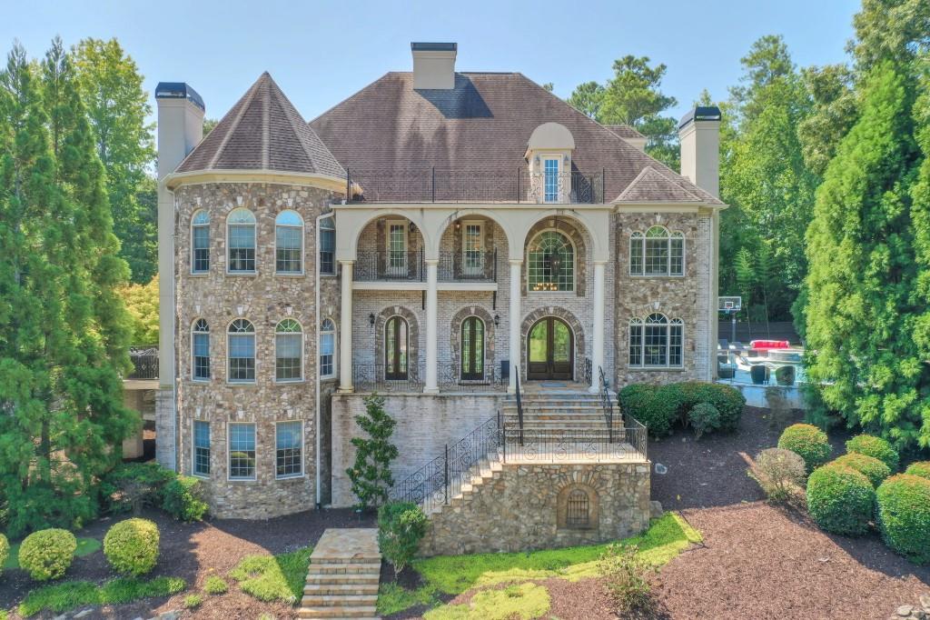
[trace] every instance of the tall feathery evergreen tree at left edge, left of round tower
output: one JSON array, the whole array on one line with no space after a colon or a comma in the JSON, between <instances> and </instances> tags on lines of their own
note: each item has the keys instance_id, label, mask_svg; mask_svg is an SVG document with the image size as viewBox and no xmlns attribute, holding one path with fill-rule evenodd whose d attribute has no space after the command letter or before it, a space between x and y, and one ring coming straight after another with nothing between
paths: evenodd
<instances>
[{"instance_id":1,"label":"tall feathery evergreen tree at left edge, left of round tower","mask_svg":"<svg viewBox=\"0 0 930 620\"><path fill-rule=\"evenodd\" d=\"M132 430L126 311L104 173L73 65L14 47L0 72L0 504L7 531L95 514Z\"/></svg>"}]
</instances>

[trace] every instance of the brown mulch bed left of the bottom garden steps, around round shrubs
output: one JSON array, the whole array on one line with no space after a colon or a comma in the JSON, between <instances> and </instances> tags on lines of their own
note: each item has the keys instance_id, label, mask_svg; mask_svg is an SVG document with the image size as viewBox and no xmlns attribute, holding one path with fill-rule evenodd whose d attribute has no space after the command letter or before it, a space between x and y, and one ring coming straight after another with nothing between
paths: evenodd
<instances>
[{"instance_id":1,"label":"brown mulch bed left of the bottom garden steps, around round shrubs","mask_svg":"<svg viewBox=\"0 0 930 620\"><path fill-rule=\"evenodd\" d=\"M315 545L326 528L373 527L374 518L361 519L351 509L326 509L301 512L279 519L250 521L243 519L214 519L203 523L179 523L161 511L147 511L141 515L158 524L161 532L161 554L158 564L146 578L157 576L183 577L188 589L169 599L143 600L126 605L98 608L84 616L94 618L148 618L155 613L183 609L188 594L203 585L206 576L226 573L247 555L277 554L293 551L301 546ZM100 519L77 532L103 540L104 534L117 519ZM115 576L102 551L85 558L75 558L65 579L86 579L103 582ZM182 616L198 618L257 618L260 613L271 613L277 620L296 616L297 610L284 603L265 603L239 591L232 579L230 591L219 596L204 596L204 604L196 614ZM18 603L36 586L29 576L19 570L5 571L0 577L0 609ZM73 610L77 612L78 610ZM53 618L54 613L42 613L38 618ZM17 616L12 616L17 617Z\"/></svg>"}]
</instances>

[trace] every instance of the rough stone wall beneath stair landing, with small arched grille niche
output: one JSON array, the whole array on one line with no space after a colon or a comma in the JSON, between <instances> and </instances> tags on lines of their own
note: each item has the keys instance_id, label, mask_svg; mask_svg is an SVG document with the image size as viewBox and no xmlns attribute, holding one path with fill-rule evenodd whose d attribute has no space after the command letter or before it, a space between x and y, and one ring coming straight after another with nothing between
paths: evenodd
<instances>
[{"instance_id":1,"label":"rough stone wall beneath stair landing, with small arched grille niche","mask_svg":"<svg viewBox=\"0 0 930 620\"><path fill-rule=\"evenodd\" d=\"M643 532L649 526L648 461L618 464L504 464L430 517L423 556L530 551L592 545ZM590 528L565 527L565 496L589 495Z\"/></svg>"}]
</instances>

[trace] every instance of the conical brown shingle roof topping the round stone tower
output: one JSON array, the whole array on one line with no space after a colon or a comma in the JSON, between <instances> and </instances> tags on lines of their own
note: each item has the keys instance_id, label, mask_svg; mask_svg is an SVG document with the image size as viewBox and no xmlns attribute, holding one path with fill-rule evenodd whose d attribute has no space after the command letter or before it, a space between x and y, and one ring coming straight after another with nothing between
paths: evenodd
<instances>
[{"instance_id":1,"label":"conical brown shingle roof topping the round stone tower","mask_svg":"<svg viewBox=\"0 0 930 620\"><path fill-rule=\"evenodd\" d=\"M274 170L345 178L345 169L265 72L178 172Z\"/></svg>"}]
</instances>

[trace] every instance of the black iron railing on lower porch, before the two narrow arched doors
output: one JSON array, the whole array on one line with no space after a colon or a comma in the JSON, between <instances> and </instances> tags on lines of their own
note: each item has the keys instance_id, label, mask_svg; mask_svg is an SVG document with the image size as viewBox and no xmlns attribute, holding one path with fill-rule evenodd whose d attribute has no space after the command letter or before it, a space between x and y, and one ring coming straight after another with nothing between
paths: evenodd
<instances>
[{"instance_id":1,"label":"black iron railing on lower porch, before the two narrow arched doors","mask_svg":"<svg viewBox=\"0 0 930 620\"><path fill-rule=\"evenodd\" d=\"M493 364L463 378L458 364L439 364L436 369L440 392L492 392L506 388ZM387 372L384 364L353 364L352 384L356 392L422 392L426 365L407 364L405 372Z\"/></svg>"}]
</instances>

